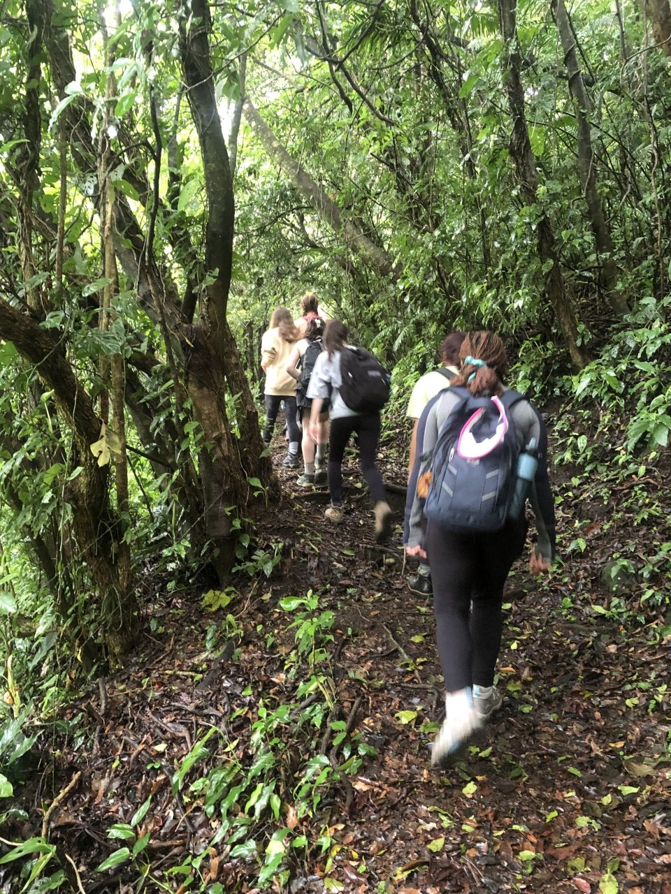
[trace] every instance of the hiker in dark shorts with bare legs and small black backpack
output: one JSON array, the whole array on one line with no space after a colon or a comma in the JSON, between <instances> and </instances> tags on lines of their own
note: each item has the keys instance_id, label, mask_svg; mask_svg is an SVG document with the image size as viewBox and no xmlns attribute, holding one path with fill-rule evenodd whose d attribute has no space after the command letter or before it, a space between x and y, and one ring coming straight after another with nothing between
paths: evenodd
<instances>
[{"instance_id":1,"label":"hiker in dark shorts with bare legs and small black backpack","mask_svg":"<svg viewBox=\"0 0 671 894\"><path fill-rule=\"evenodd\" d=\"M322 407L319 416L319 435L315 442L310 437L310 398L308 397L308 385L312 370L317 363L317 358L324 350L322 337L324 335L325 322L320 316L313 316L305 331L305 338L296 345L289 358L286 371L296 380L296 406L302 415L302 454L305 471L296 482L299 487L310 485L326 485L327 472L324 468L324 459L328 442L328 403Z\"/></svg>"}]
</instances>

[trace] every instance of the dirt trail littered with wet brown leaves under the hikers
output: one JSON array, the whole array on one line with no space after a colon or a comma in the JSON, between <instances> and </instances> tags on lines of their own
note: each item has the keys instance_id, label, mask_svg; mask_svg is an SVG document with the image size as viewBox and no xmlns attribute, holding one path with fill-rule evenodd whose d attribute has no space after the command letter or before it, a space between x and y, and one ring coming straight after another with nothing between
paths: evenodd
<instances>
[{"instance_id":1,"label":"dirt trail littered with wet brown leaves under the hikers","mask_svg":"<svg viewBox=\"0 0 671 894\"><path fill-rule=\"evenodd\" d=\"M386 468L399 486L401 468ZM82 771L53 814L51 840L89 880L87 894L256 890L268 840L283 825L308 843L278 846L285 875L271 890L290 894L671 891L671 650L658 627L624 629L595 612L606 596L584 564L567 563L542 589L520 564L506 595L503 708L466 758L432 771L442 681L430 601L405 585L400 527L391 544L374 544L369 497L353 465L345 469L340 527L323 517L325 493L294 488L295 473L279 474L285 501L268 506L259 544L267 557L284 544L270 577L241 572L230 604L226 595L210 596L221 599L212 612L192 589L157 599L153 639L106 681L105 704L92 689L42 743L43 773L24 801L50 801ZM391 494L390 502L400 524L403 499ZM280 607L283 597L304 598L310 589L319 597L313 610ZM332 620L322 614L331 611ZM300 630L290 625L301 618L321 620L305 628L296 653ZM310 668L327 684L310 688ZM325 719L310 728L320 703ZM283 704L270 724L269 712ZM87 725L92 746L79 747ZM212 730L223 737L217 746ZM198 763L184 769L208 731ZM264 753L276 763L254 776ZM300 768L316 755L335 773L306 795ZM222 781L208 813L213 772L229 763L242 775ZM219 805L243 772L241 785L250 788L233 799L235 822L258 813L248 801L256 780L266 780L271 794L267 819L261 811L249 826L255 847L236 851L233 839L216 835L229 822ZM107 839L110 826L132 825L148 800L133 826L131 845L149 830L140 856L93 873L125 843ZM41 816L33 809L30 817L3 837L38 834ZM150 870L140 883L142 855ZM18 890L14 881L0 875L0 890Z\"/></svg>"}]
</instances>

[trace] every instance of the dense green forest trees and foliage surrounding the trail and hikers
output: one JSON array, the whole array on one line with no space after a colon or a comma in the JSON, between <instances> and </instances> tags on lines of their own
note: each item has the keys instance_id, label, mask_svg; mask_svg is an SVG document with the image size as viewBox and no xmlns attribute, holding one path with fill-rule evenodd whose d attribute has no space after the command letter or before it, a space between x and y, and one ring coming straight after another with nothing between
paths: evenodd
<instances>
[{"instance_id":1,"label":"dense green forest trees and foliage surrounding the trail and hikers","mask_svg":"<svg viewBox=\"0 0 671 894\"><path fill-rule=\"evenodd\" d=\"M667 447L667 0L0 8L0 797L145 641L141 581L278 561L259 343L307 289L390 427L490 328L571 468Z\"/></svg>"}]
</instances>

